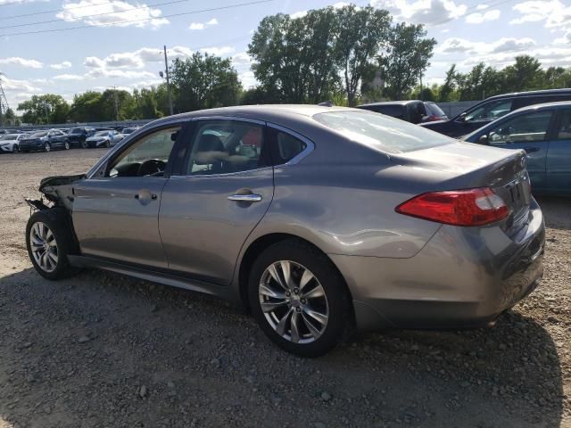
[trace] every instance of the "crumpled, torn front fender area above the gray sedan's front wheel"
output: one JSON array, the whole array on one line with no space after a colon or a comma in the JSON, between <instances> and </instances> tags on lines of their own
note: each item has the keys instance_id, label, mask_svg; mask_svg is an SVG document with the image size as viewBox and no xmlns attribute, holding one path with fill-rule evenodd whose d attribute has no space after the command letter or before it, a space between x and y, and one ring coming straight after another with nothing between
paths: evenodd
<instances>
[{"instance_id":1,"label":"crumpled, torn front fender area above the gray sedan's front wheel","mask_svg":"<svg viewBox=\"0 0 571 428\"><path fill-rule=\"evenodd\" d=\"M71 211L75 200L75 189L73 185L83 180L85 174L75 176L55 176L42 179L39 184L39 192L46 197L41 199L26 199L31 211L49 210L54 207L63 207Z\"/></svg>"}]
</instances>

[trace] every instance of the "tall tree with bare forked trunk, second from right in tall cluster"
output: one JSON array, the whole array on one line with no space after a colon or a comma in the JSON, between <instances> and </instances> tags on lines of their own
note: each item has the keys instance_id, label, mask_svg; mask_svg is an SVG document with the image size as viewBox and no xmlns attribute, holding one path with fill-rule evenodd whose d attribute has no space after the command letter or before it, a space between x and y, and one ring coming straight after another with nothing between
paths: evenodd
<instances>
[{"instance_id":1,"label":"tall tree with bare forked trunk, second from right in tall cluster","mask_svg":"<svg viewBox=\"0 0 571 428\"><path fill-rule=\"evenodd\" d=\"M354 4L336 11L338 32L334 54L343 75L349 105L357 103L361 79L369 63L378 55L389 36L391 15L374 7L357 8Z\"/></svg>"}]
</instances>

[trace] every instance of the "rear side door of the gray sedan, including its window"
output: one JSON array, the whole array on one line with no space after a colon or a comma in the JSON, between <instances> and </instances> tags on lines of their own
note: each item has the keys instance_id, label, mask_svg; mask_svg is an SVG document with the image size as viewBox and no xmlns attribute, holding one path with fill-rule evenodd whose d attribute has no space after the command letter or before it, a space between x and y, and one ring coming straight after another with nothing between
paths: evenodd
<instances>
[{"instance_id":1,"label":"rear side door of the gray sedan, including its window","mask_svg":"<svg viewBox=\"0 0 571 428\"><path fill-rule=\"evenodd\" d=\"M273 191L263 122L196 119L186 160L162 191L159 230L169 268L228 285Z\"/></svg>"}]
</instances>

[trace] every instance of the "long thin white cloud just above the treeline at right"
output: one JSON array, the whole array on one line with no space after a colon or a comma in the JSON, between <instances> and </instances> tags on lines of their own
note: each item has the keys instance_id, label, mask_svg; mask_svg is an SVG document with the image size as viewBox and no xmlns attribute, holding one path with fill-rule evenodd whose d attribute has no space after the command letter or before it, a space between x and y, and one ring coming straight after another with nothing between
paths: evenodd
<instances>
[{"instance_id":1,"label":"long thin white cloud just above the treeline at right","mask_svg":"<svg viewBox=\"0 0 571 428\"><path fill-rule=\"evenodd\" d=\"M486 53L511 52L512 57L519 51L529 49L536 45L533 38L502 37L492 42L472 42L465 38L451 37L443 41L436 49L436 53L468 53L471 55L484 55Z\"/></svg>"}]
</instances>

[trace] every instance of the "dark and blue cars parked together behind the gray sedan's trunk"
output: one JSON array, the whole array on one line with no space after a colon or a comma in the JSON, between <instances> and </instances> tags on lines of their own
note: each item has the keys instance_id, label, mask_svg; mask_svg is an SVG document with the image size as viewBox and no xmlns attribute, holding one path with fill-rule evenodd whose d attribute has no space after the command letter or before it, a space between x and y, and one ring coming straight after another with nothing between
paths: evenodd
<instances>
[{"instance_id":1,"label":"dark and blue cars parked together behind the gray sedan's trunk","mask_svg":"<svg viewBox=\"0 0 571 428\"><path fill-rule=\"evenodd\" d=\"M571 195L571 89L496 95L434 120L434 103L370 103L377 111L469 143L523 149L534 193ZM445 116L445 115L444 115Z\"/></svg>"}]
</instances>

